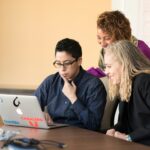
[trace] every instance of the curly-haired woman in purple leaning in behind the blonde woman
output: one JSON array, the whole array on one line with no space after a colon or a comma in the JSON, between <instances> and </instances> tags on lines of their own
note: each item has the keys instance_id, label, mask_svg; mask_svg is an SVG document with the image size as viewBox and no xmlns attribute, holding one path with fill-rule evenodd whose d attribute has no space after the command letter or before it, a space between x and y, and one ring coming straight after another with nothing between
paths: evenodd
<instances>
[{"instance_id":1,"label":"curly-haired woman in purple leaning in behind the blonde woman","mask_svg":"<svg viewBox=\"0 0 150 150\"><path fill-rule=\"evenodd\" d=\"M120 11L105 11L97 19L97 41L101 46L99 56L99 68L91 67L88 72L97 76L105 76L103 73L103 51L111 43L119 40L129 40L139 51L150 60L150 48L144 41L138 40L131 33L128 18Z\"/></svg>"}]
</instances>

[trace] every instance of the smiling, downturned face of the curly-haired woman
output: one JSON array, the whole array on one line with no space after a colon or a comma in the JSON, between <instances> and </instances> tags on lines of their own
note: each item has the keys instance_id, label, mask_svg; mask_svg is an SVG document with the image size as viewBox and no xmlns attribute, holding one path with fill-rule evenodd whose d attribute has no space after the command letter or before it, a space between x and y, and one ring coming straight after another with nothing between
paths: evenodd
<instances>
[{"instance_id":1,"label":"smiling, downturned face of the curly-haired woman","mask_svg":"<svg viewBox=\"0 0 150 150\"><path fill-rule=\"evenodd\" d=\"M109 44L114 42L113 37L107 32L104 32L101 28L97 28L97 41L102 48L106 48Z\"/></svg>"}]
</instances>

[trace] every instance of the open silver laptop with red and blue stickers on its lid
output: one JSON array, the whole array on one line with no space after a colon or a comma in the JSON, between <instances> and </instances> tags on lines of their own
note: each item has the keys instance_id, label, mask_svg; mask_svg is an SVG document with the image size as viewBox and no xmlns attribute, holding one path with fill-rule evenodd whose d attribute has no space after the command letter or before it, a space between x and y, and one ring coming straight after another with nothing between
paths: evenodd
<instances>
[{"instance_id":1,"label":"open silver laptop with red and blue stickers on its lid","mask_svg":"<svg viewBox=\"0 0 150 150\"><path fill-rule=\"evenodd\" d=\"M67 124L48 125L36 96L0 94L0 116L5 125L33 128L58 128Z\"/></svg>"}]
</instances>

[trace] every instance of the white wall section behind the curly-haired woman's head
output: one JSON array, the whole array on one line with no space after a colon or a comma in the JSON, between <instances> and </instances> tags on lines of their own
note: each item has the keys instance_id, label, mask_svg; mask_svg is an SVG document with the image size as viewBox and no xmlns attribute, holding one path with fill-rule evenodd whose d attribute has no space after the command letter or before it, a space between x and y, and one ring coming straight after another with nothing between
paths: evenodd
<instances>
[{"instance_id":1,"label":"white wall section behind the curly-haired woman's head","mask_svg":"<svg viewBox=\"0 0 150 150\"><path fill-rule=\"evenodd\" d=\"M150 46L150 0L112 0L112 9L130 20L132 34Z\"/></svg>"}]
</instances>

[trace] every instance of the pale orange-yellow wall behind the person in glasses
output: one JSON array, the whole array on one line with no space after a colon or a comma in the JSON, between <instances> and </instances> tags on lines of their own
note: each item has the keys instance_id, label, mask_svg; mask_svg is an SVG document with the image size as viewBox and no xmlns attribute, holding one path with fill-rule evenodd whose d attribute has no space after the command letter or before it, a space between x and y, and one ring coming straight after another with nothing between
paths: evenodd
<instances>
[{"instance_id":1,"label":"pale orange-yellow wall behind the person in glasses","mask_svg":"<svg viewBox=\"0 0 150 150\"><path fill-rule=\"evenodd\" d=\"M0 0L0 87L37 88L66 37L81 44L85 69L97 66L96 20L106 10L111 0Z\"/></svg>"}]
</instances>

